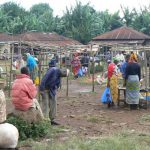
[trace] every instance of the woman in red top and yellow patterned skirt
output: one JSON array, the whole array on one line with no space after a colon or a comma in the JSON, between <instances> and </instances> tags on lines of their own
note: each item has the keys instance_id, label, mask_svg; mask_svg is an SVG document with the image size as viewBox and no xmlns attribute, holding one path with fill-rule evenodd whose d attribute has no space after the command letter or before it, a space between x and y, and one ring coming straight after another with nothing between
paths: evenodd
<instances>
[{"instance_id":1,"label":"woman in red top and yellow patterned skirt","mask_svg":"<svg viewBox=\"0 0 150 150\"><path fill-rule=\"evenodd\" d=\"M112 102L115 103L118 100L118 60L114 58L114 61L108 65L108 87L110 87ZM108 105L110 106L110 104Z\"/></svg>"}]
</instances>

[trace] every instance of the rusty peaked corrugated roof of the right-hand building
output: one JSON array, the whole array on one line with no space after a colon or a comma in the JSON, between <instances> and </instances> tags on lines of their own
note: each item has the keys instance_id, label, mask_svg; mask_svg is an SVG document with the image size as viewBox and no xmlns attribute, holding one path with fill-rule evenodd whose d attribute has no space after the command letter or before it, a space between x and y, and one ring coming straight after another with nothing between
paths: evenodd
<instances>
[{"instance_id":1,"label":"rusty peaked corrugated roof of the right-hand building","mask_svg":"<svg viewBox=\"0 0 150 150\"><path fill-rule=\"evenodd\" d=\"M93 38L93 41L98 40L145 40L150 39L150 36L142 32L138 32L126 26L106 32Z\"/></svg>"}]
</instances>

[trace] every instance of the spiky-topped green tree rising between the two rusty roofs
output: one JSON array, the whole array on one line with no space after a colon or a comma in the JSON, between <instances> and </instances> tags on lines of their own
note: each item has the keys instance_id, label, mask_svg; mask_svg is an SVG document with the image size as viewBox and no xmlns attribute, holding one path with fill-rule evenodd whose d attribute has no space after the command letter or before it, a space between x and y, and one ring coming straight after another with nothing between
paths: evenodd
<instances>
[{"instance_id":1,"label":"spiky-topped green tree rising between the two rusty roofs","mask_svg":"<svg viewBox=\"0 0 150 150\"><path fill-rule=\"evenodd\" d=\"M89 4L77 2L75 8L66 9L62 18L63 34L85 44L91 40L92 32L95 32L93 24L97 17L96 11Z\"/></svg>"}]
</instances>

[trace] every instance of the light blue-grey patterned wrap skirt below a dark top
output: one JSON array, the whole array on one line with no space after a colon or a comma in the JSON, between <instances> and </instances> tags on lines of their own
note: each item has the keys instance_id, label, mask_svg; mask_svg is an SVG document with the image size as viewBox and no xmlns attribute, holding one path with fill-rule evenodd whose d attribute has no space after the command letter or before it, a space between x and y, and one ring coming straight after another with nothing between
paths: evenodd
<instances>
[{"instance_id":1,"label":"light blue-grey patterned wrap skirt below a dark top","mask_svg":"<svg viewBox=\"0 0 150 150\"><path fill-rule=\"evenodd\" d=\"M126 83L126 103L139 104L140 82L138 75L129 75Z\"/></svg>"}]
</instances>

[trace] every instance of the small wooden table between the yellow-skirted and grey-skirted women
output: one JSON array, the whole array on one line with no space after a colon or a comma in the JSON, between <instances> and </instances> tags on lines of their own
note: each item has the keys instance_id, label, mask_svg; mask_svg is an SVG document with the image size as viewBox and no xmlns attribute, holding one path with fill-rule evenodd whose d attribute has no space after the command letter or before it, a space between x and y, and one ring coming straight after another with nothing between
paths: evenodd
<instances>
[{"instance_id":1,"label":"small wooden table between the yellow-skirted and grey-skirted women","mask_svg":"<svg viewBox=\"0 0 150 150\"><path fill-rule=\"evenodd\" d=\"M121 98L121 91L124 94L124 98ZM118 106L120 105L120 102L126 103L126 87L118 87Z\"/></svg>"}]
</instances>

